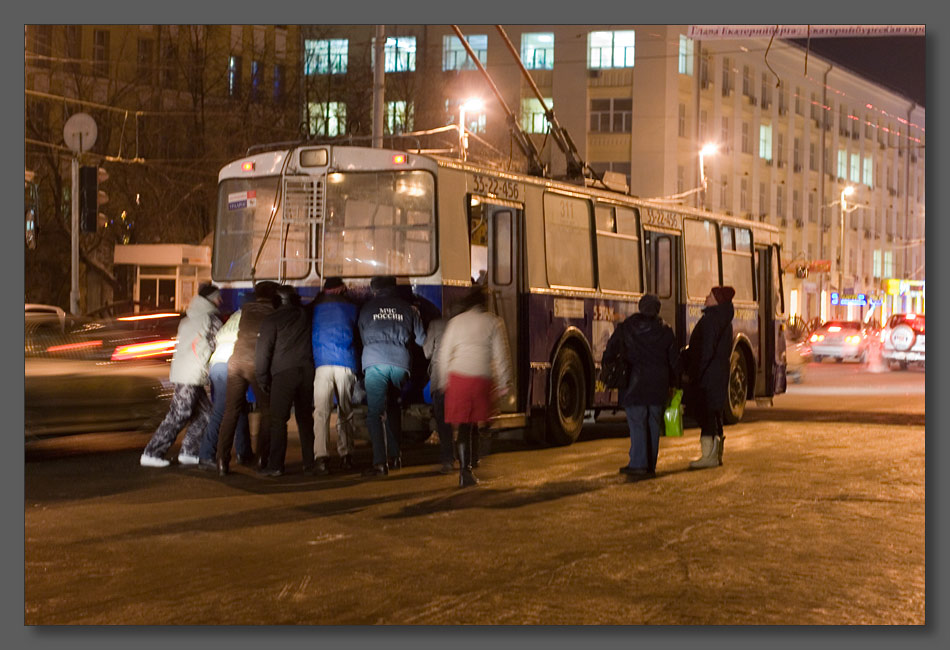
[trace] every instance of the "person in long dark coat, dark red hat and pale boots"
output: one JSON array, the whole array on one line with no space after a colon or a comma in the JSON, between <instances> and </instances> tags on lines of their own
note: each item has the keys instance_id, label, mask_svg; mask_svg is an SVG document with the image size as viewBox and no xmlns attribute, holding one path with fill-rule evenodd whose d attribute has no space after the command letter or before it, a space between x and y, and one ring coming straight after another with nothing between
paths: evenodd
<instances>
[{"instance_id":1,"label":"person in long dark coat, dark red hat and pale boots","mask_svg":"<svg viewBox=\"0 0 950 650\"><path fill-rule=\"evenodd\" d=\"M690 469L722 465L722 410L729 396L735 295L732 287L713 287L689 337L686 407L699 421L702 450L702 456L690 462Z\"/></svg>"}]
</instances>

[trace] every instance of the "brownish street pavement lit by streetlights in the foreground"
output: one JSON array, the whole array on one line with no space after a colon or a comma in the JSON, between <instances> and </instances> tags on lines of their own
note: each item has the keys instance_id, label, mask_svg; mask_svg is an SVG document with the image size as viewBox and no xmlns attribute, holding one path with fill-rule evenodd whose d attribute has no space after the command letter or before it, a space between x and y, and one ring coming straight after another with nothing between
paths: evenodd
<instances>
[{"instance_id":1,"label":"brownish street pavement lit by streetlights in the foreground","mask_svg":"<svg viewBox=\"0 0 950 650\"><path fill-rule=\"evenodd\" d=\"M496 439L457 487L437 445L384 479L137 464L148 436L27 445L33 624L923 624L922 370L812 364L688 470L629 482L622 422ZM369 449L361 446L367 462Z\"/></svg>"}]
</instances>

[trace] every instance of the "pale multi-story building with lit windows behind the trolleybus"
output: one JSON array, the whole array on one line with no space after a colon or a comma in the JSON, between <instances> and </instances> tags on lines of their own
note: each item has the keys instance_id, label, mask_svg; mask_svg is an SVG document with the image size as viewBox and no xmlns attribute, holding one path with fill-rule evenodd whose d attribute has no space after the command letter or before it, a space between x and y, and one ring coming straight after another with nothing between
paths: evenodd
<instances>
[{"instance_id":1,"label":"pale multi-story building with lit windows behind the trolleybus","mask_svg":"<svg viewBox=\"0 0 950 650\"><path fill-rule=\"evenodd\" d=\"M504 30L592 168L626 175L641 197L779 227L791 314L856 318L867 310L832 308L833 293L880 300L885 314L923 309L922 293L883 287L889 278L924 279L924 107L813 52L806 67L805 50L784 41L700 42L682 25ZM301 27L311 135L369 134L374 33L371 25ZM501 34L466 25L464 35L563 174L541 102ZM478 96L484 108L466 109L467 128L485 151L512 155L507 115L451 26L387 26L384 56L385 132L455 123L459 106ZM718 153L701 160L706 143Z\"/></svg>"}]
</instances>

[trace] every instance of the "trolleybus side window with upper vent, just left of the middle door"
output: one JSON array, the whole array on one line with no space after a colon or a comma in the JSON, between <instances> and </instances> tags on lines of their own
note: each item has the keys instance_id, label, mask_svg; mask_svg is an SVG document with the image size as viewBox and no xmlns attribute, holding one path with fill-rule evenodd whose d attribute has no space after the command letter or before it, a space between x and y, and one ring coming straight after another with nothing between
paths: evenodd
<instances>
[{"instance_id":1,"label":"trolleybus side window with upper vent, just left of the middle door","mask_svg":"<svg viewBox=\"0 0 950 650\"><path fill-rule=\"evenodd\" d=\"M594 208L600 288L641 291L640 241L635 210L609 205Z\"/></svg>"}]
</instances>

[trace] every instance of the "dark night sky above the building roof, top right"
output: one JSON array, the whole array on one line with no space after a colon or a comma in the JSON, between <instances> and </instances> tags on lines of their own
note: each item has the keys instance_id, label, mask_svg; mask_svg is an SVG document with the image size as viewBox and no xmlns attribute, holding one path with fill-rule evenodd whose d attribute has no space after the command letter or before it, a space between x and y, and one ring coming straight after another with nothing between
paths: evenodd
<instances>
[{"instance_id":1,"label":"dark night sky above the building roof, top right","mask_svg":"<svg viewBox=\"0 0 950 650\"><path fill-rule=\"evenodd\" d=\"M926 106L924 46L921 36L813 38L810 51Z\"/></svg>"}]
</instances>

